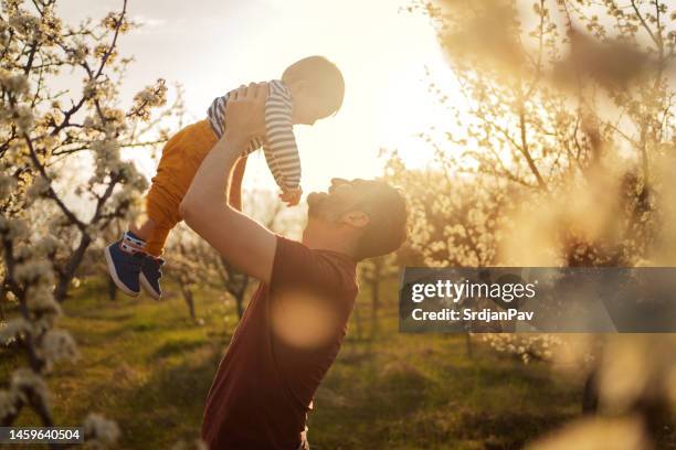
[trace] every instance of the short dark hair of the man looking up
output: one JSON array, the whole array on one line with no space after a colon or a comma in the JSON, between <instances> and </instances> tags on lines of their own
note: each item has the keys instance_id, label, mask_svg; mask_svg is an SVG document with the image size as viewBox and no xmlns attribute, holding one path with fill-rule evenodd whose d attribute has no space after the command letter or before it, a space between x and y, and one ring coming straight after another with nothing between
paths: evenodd
<instances>
[{"instance_id":1,"label":"short dark hair of the man looking up","mask_svg":"<svg viewBox=\"0 0 676 450\"><path fill-rule=\"evenodd\" d=\"M370 181L368 189L362 204L370 221L357 243L357 260L387 255L406 239L408 211L401 192L380 180Z\"/></svg>"}]
</instances>

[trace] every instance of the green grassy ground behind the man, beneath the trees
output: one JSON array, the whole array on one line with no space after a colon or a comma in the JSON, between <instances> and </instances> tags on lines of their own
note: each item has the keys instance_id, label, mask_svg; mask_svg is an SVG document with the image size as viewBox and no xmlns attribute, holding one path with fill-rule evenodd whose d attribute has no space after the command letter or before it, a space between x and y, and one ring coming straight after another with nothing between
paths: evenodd
<instances>
[{"instance_id":1,"label":"green grassy ground behind the man, beneath the trees","mask_svg":"<svg viewBox=\"0 0 676 450\"><path fill-rule=\"evenodd\" d=\"M393 297L395 286L383 291ZM480 344L468 357L463 335L399 334L392 298L371 339L367 296L358 302L359 326L350 324L317 393L313 449L517 449L579 414L581 379ZM220 292L199 292L196 324L180 297L167 297L109 301L97 279L74 290L60 323L82 357L50 377L57 424L104 413L118 422L124 449L168 449L199 435L207 392L236 325L234 306ZM19 356L0 352L2 381ZM36 421L24 414L19 422Z\"/></svg>"}]
</instances>

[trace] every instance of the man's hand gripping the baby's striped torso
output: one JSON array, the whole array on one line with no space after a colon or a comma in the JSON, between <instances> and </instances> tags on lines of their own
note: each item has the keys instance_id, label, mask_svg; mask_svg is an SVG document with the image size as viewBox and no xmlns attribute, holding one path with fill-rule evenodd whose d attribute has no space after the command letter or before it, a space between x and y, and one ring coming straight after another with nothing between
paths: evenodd
<instances>
[{"instance_id":1,"label":"man's hand gripping the baby's striped torso","mask_svg":"<svg viewBox=\"0 0 676 450\"><path fill-rule=\"evenodd\" d=\"M266 98L267 83L251 83L232 92L225 105L225 133L233 143L265 135Z\"/></svg>"}]
</instances>

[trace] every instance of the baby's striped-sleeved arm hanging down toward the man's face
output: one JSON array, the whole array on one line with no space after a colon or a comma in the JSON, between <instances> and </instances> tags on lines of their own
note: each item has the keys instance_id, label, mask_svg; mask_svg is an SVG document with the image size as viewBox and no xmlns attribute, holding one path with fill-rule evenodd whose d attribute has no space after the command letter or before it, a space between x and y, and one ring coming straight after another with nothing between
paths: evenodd
<instances>
[{"instance_id":1,"label":"baby's striped-sleeved arm hanging down toward the man's face","mask_svg":"<svg viewBox=\"0 0 676 450\"><path fill-rule=\"evenodd\" d=\"M292 99L279 82L268 83L270 93L265 103L266 140L263 146L267 165L281 195L289 206L300 200L300 157L292 121Z\"/></svg>"}]
</instances>

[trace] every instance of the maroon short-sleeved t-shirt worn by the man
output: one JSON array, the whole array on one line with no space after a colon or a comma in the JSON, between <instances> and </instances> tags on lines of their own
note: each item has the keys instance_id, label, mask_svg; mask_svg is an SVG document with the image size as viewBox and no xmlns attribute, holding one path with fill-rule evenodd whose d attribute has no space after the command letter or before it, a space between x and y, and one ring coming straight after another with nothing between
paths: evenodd
<instances>
[{"instance_id":1,"label":"maroon short-sleeved t-shirt worn by the man","mask_svg":"<svg viewBox=\"0 0 676 450\"><path fill-rule=\"evenodd\" d=\"M270 286L254 293L207 397L211 450L298 447L357 290L349 256L277 237Z\"/></svg>"}]
</instances>

